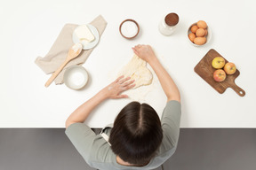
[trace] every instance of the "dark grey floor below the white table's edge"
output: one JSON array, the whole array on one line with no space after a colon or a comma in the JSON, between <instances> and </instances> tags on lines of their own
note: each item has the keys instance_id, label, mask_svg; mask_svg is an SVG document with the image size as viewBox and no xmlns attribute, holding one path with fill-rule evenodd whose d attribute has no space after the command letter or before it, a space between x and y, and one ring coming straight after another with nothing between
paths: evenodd
<instances>
[{"instance_id":1,"label":"dark grey floor below the white table's edge","mask_svg":"<svg viewBox=\"0 0 256 170\"><path fill-rule=\"evenodd\" d=\"M0 128L0 170L89 170L63 128ZM164 170L255 170L256 128L181 128Z\"/></svg>"}]
</instances>

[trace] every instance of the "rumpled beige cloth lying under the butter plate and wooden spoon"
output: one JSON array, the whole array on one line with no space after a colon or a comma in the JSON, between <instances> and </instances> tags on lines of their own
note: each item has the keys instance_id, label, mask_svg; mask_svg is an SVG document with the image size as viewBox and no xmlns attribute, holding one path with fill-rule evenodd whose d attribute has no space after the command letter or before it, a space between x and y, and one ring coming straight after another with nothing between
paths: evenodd
<instances>
[{"instance_id":1,"label":"rumpled beige cloth lying under the butter plate and wooden spoon","mask_svg":"<svg viewBox=\"0 0 256 170\"><path fill-rule=\"evenodd\" d=\"M93 19L90 23L92 26L96 27L98 29L98 32L100 35L105 30L105 27L107 26L107 22L103 17L100 15L96 19ZM36 58L36 65L39 66L44 73L53 73L55 72L59 66L65 61L68 55L68 50L72 47L74 44L72 35L73 31L78 25L76 24L66 24L62 30L60 31L60 35L57 37L56 41L53 43L51 50L48 52L48 54L42 58L37 57ZM94 47L95 48L95 47ZM82 65L86 61L86 59L91 54L92 50L82 50L81 54L71 60L67 66L64 67L64 69L60 72L60 74L56 77L55 83L61 84L63 83L63 75L65 73L65 70L69 66L75 66L75 65ZM47 80L45 80L46 82Z\"/></svg>"}]
</instances>

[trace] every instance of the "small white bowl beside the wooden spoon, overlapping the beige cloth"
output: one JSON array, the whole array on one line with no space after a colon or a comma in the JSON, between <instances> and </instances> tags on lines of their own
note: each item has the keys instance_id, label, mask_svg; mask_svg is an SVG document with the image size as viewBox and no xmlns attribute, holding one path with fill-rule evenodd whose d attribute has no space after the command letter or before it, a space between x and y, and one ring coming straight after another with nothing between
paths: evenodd
<instances>
[{"instance_id":1,"label":"small white bowl beside the wooden spoon, overlapping the beige cloth","mask_svg":"<svg viewBox=\"0 0 256 170\"><path fill-rule=\"evenodd\" d=\"M64 73L64 83L69 89L82 89L88 81L88 73L83 66L70 66Z\"/></svg>"}]
</instances>

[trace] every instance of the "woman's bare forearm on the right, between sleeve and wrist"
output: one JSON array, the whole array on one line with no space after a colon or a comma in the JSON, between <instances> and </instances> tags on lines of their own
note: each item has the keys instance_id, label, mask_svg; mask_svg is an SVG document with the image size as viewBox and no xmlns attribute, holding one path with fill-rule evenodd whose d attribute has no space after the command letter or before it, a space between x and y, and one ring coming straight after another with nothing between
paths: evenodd
<instances>
[{"instance_id":1,"label":"woman's bare forearm on the right, between sleeve and wrist","mask_svg":"<svg viewBox=\"0 0 256 170\"><path fill-rule=\"evenodd\" d=\"M180 91L176 86L175 82L172 80L172 77L164 69L164 66L162 66L160 61L157 58L152 58L150 61L148 61L148 64L155 71L156 76L160 81L160 84L167 97L167 101L177 100L180 102Z\"/></svg>"}]
</instances>

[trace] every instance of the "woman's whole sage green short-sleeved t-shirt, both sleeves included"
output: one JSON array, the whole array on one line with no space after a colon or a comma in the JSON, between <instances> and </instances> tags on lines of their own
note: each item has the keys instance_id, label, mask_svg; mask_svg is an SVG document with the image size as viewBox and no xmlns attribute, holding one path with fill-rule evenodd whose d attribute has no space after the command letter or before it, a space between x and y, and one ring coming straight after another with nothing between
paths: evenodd
<instances>
[{"instance_id":1,"label":"woman's whole sage green short-sleeved t-shirt, both sleeves included","mask_svg":"<svg viewBox=\"0 0 256 170\"><path fill-rule=\"evenodd\" d=\"M180 135L180 115L180 102L169 101L161 119L163 142L156 152L156 157L152 158L147 166L119 165L108 142L101 135L95 135L92 129L84 123L71 124L65 133L89 166L100 170L148 170L161 166L176 150ZM110 131L111 128L106 128L104 133L109 136Z\"/></svg>"}]
</instances>

